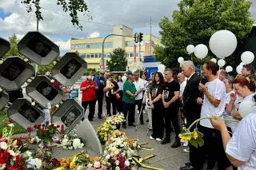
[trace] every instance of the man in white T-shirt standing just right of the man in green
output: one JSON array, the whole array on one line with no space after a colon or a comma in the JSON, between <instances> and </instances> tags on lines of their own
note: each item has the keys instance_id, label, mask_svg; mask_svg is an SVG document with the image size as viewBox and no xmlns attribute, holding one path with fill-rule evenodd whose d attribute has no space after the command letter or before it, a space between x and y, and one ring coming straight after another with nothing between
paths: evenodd
<instances>
[{"instance_id":1,"label":"man in white T-shirt standing just right of the man in green","mask_svg":"<svg viewBox=\"0 0 256 170\"><path fill-rule=\"evenodd\" d=\"M137 96L135 97L135 105L138 106L138 113L141 111L142 109L142 99L143 99L143 89L144 89L144 81L138 77L138 72L134 73L134 85L136 87L137 90ZM140 123L141 125L144 124L143 121L143 114L140 114L139 117Z\"/></svg>"}]
</instances>

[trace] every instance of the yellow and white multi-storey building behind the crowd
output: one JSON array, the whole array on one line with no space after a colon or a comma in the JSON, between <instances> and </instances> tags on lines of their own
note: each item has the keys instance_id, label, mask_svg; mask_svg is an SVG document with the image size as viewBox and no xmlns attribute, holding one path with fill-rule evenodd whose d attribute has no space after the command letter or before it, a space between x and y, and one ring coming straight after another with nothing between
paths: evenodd
<instances>
[{"instance_id":1,"label":"yellow and white multi-storey building behind the crowd","mask_svg":"<svg viewBox=\"0 0 256 170\"><path fill-rule=\"evenodd\" d=\"M110 36L106 38L104 43L104 64L106 60L109 60L110 53L117 48L126 49L126 57L128 60L129 69L138 68L142 66L142 62L139 61L139 54L142 58L144 56L150 56L150 34L143 34L143 41L141 42L141 52L139 53L139 45L134 42L133 30L127 26L113 26L113 34L122 36ZM100 69L102 65L102 42L104 38L86 38L86 39L71 39L70 52L78 52L79 55L85 59L88 68ZM154 44L158 44L159 39L151 35L151 54L154 52ZM134 59L136 45L136 61ZM135 62L134 62L135 61Z\"/></svg>"}]
</instances>

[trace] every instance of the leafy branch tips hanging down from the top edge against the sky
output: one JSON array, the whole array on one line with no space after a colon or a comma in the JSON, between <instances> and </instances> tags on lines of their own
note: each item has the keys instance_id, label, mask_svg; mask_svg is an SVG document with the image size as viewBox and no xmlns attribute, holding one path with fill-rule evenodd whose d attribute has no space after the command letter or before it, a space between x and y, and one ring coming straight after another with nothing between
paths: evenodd
<instances>
[{"instance_id":1,"label":"leafy branch tips hanging down from the top edge against the sky","mask_svg":"<svg viewBox=\"0 0 256 170\"><path fill-rule=\"evenodd\" d=\"M26 4L26 10L28 13L33 12L31 6L34 6L36 18L38 18L39 21L43 20L40 1L41 0L22 0L22 3ZM57 0L57 5L62 6L64 12L69 11L73 26L78 26L78 28L82 30L82 25L78 19L78 12L84 13L84 15L86 12L89 12L86 2L84 0ZM89 14L87 14L87 16L88 19L92 19Z\"/></svg>"}]
</instances>

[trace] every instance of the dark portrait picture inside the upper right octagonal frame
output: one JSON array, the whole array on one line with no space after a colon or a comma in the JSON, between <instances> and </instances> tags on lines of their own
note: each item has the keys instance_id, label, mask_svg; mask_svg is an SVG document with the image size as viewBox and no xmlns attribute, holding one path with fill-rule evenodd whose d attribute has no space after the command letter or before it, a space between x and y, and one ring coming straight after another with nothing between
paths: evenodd
<instances>
[{"instance_id":1,"label":"dark portrait picture inside the upper right octagonal frame","mask_svg":"<svg viewBox=\"0 0 256 170\"><path fill-rule=\"evenodd\" d=\"M60 69L60 73L67 79L70 79L81 67L82 65L76 59L72 58Z\"/></svg>"}]
</instances>

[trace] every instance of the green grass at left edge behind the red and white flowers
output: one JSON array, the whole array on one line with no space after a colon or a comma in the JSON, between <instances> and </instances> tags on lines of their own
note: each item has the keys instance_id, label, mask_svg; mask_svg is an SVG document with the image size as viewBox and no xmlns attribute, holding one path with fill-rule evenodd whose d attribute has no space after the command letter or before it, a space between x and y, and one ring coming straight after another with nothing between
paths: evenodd
<instances>
[{"instance_id":1,"label":"green grass at left edge behind the red and white flowers","mask_svg":"<svg viewBox=\"0 0 256 170\"><path fill-rule=\"evenodd\" d=\"M6 109L1 110L0 111L0 134L2 134L3 128L7 127L7 129L10 129L10 127L8 126L8 123L7 123L8 119L9 118L7 117ZM26 133L26 130L24 130L23 128L21 128L18 125L14 125L13 131L14 131L14 134Z\"/></svg>"}]
</instances>

